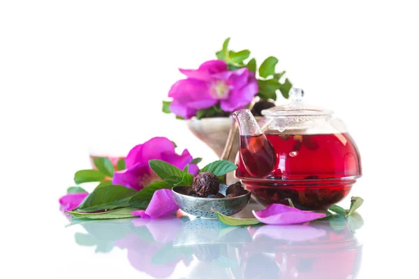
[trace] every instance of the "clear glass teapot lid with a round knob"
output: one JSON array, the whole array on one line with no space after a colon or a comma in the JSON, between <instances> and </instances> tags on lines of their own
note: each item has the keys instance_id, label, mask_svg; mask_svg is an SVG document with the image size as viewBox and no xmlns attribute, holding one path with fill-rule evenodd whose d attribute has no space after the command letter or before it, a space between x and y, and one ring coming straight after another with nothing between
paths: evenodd
<instances>
[{"instance_id":1,"label":"clear glass teapot lid with a round knob","mask_svg":"<svg viewBox=\"0 0 419 279\"><path fill-rule=\"evenodd\" d=\"M291 103L286 105L279 105L272 107L267 110L263 110L261 113L264 116L320 116L330 115L333 112L331 110L325 110L322 107L315 107L312 105L306 105L302 101L304 91L302 89L292 88L290 90Z\"/></svg>"}]
</instances>

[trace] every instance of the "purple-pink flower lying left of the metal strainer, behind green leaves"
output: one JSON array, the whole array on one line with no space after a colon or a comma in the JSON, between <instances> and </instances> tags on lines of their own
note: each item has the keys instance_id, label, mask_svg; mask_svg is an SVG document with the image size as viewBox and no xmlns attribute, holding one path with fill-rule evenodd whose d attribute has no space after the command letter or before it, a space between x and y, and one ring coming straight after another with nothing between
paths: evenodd
<instances>
[{"instance_id":1,"label":"purple-pink flower lying left of the metal strainer, behind green leaves","mask_svg":"<svg viewBox=\"0 0 419 279\"><path fill-rule=\"evenodd\" d=\"M115 172L112 183L141 190L153 181L158 181L159 177L154 174L148 164L148 161L152 159L163 160L179 169L183 169L193 160L187 149L182 152L182 155L178 155L173 142L166 137L153 137L129 151L126 156L126 169ZM197 174L197 165L189 165L189 172Z\"/></svg>"}]
</instances>

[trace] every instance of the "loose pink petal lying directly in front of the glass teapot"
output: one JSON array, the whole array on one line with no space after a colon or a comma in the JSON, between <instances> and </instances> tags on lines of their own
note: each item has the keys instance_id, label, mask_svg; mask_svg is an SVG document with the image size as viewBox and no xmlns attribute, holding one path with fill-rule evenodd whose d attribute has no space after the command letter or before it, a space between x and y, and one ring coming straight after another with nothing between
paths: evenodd
<instances>
[{"instance_id":1,"label":"loose pink petal lying directly in front of the glass teapot","mask_svg":"<svg viewBox=\"0 0 419 279\"><path fill-rule=\"evenodd\" d=\"M325 213L302 211L284 204L271 204L266 209L252 212L261 223L270 225L300 224L326 216Z\"/></svg>"}]
</instances>

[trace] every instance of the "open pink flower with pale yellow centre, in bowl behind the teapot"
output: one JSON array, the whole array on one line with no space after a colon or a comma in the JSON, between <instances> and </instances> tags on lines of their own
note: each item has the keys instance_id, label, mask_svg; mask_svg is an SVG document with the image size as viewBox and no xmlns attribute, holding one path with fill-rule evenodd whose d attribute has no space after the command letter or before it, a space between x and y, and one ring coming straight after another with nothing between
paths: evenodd
<instances>
[{"instance_id":1,"label":"open pink flower with pale yellow centre, in bowl behind the teapot","mask_svg":"<svg viewBox=\"0 0 419 279\"><path fill-rule=\"evenodd\" d=\"M218 103L221 110L233 112L251 103L258 93L253 72L247 68L229 71L221 60L207 61L198 70L179 70L188 78L172 85L170 111L186 119Z\"/></svg>"}]
</instances>

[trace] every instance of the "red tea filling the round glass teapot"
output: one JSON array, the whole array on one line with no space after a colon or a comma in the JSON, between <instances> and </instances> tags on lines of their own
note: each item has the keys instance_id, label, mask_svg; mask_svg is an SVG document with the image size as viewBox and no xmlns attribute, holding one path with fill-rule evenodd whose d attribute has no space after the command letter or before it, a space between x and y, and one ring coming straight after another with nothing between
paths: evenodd
<instances>
[{"instance_id":1,"label":"red tea filling the round glass teapot","mask_svg":"<svg viewBox=\"0 0 419 279\"><path fill-rule=\"evenodd\" d=\"M358 150L346 133L266 135L270 144L264 138L240 137L236 170L237 178L262 204L289 197L300 209L325 209L343 199L361 175Z\"/></svg>"}]
</instances>

